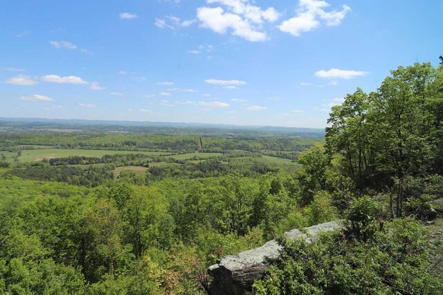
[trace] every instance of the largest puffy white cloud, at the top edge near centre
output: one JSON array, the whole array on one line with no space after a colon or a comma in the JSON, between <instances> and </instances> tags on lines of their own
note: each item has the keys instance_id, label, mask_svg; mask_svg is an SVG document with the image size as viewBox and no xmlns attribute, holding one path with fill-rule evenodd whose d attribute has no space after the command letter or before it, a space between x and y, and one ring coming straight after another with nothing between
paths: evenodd
<instances>
[{"instance_id":1,"label":"largest puffy white cloud, at the top edge near centre","mask_svg":"<svg viewBox=\"0 0 443 295\"><path fill-rule=\"evenodd\" d=\"M219 34L229 31L234 36L253 42L269 39L262 25L280 17L274 8L264 10L249 0L206 0L206 3L219 6L197 8L201 27Z\"/></svg>"}]
</instances>

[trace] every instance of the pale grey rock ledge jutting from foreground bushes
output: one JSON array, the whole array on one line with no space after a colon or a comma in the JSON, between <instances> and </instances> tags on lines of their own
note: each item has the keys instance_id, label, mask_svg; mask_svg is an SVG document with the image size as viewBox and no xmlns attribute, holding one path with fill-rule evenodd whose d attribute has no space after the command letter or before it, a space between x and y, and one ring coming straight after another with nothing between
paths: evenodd
<instances>
[{"instance_id":1,"label":"pale grey rock ledge jutting from foreground bushes","mask_svg":"<svg viewBox=\"0 0 443 295\"><path fill-rule=\"evenodd\" d=\"M284 233L290 239L302 238L311 243L321 231L333 231L341 225L336 221L307 227L300 231L293 229ZM306 234L305 234L306 233ZM228 255L209 267L213 277L210 295L252 295L254 280L264 275L264 269L272 260L278 258L282 247L276 240L266 242L262 247L244 251L238 255Z\"/></svg>"}]
</instances>

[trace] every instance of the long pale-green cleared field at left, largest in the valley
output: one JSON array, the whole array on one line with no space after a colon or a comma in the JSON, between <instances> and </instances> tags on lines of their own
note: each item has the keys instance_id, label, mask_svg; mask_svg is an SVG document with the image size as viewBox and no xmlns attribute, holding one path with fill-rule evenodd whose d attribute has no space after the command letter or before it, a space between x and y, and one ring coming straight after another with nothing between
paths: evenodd
<instances>
[{"instance_id":1,"label":"long pale-green cleared field at left, largest in the valley","mask_svg":"<svg viewBox=\"0 0 443 295\"><path fill-rule=\"evenodd\" d=\"M84 157L102 157L103 155L143 153L145 155L164 155L165 152L158 151L108 151L108 150L89 150L89 149L35 149L22 151L19 160L21 162L35 162L43 159L64 158L73 155Z\"/></svg>"}]
</instances>

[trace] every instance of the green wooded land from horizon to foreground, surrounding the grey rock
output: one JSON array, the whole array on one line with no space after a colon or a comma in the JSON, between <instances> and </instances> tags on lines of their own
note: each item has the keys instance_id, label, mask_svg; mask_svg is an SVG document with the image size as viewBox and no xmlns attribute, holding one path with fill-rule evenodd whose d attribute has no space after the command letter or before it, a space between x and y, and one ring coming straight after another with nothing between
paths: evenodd
<instances>
[{"instance_id":1,"label":"green wooded land from horizon to foreground, surrounding the grey rock","mask_svg":"<svg viewBox=\"0 0 443 295\"><path fill-rule=\"evenodd\" d=\"M208 294L210 265L276 238L255 294L442 294L443 65L392 70L327 124L0 124L0 293Z\"/></svg>"}]
</instances>

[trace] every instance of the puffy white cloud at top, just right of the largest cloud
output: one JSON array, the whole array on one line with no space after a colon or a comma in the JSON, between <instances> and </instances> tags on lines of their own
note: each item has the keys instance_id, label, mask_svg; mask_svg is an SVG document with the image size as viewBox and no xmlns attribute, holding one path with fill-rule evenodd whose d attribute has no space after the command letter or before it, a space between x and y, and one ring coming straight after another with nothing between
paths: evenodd
<instances>
[{"instance_id":1,"label":"puffy white cloud at top, just right of the largest cloud","mask_svg":"<svg viewBox=\"0 0 443 295\"><path fill-rule=\"evenodd\" d=\"M278 28L282 32L289 32L293 36L300 36L302 32L309 32L318 28L322 21L326 26L338 26L351 8L343 5L342 10L325 11L329 3L323 0L300 0L296 16L283 21Z\"/></svg>"}]
</instances>

